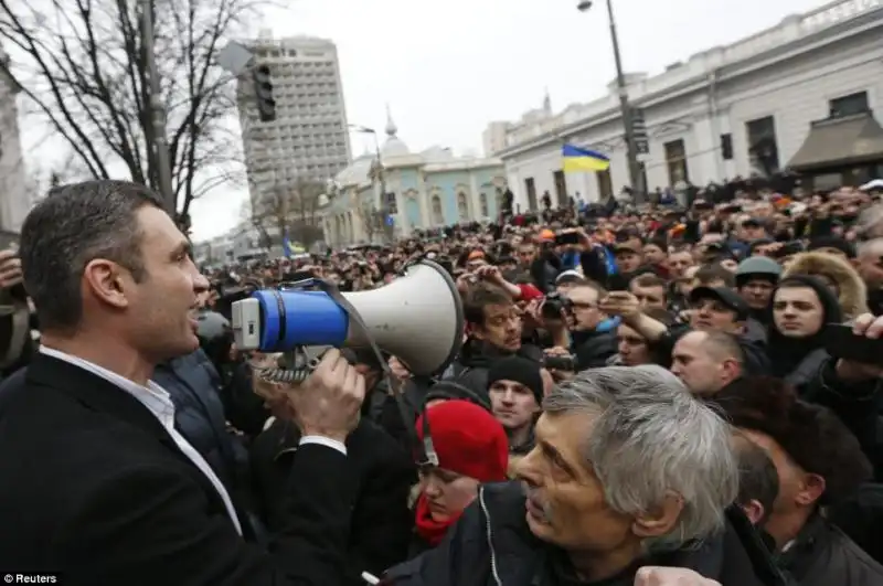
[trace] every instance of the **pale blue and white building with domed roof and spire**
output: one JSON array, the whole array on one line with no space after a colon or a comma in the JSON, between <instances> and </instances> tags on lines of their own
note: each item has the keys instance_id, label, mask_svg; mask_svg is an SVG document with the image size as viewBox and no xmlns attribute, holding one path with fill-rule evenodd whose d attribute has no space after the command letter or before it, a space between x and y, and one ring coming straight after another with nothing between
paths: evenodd
<instances>
[{"instance_id":1,"label":"pale blue and white building with domed roof and spire","mask_svg":"<svg viewBox=\"0 0 883 586\"><path fill-rule=\"evenodd\" d=\"M493 220L506 191L502 161L455 157L434 147L411 152L390 117L377 153L336 178L323 198L322 230L332 247L406 237L415 230Z\"/></svg>"}]
</instances>

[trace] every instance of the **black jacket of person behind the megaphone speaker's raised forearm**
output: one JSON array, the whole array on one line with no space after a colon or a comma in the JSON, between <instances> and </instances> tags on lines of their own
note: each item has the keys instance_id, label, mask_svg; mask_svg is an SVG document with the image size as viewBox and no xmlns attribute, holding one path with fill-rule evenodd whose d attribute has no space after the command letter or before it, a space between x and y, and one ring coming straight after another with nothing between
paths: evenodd
<instances>
[{"instance_id":1,"label":"black jacket of person behind the megaphone speaker's raised forearm","mask_svg":"<svg viewBox=\"0 0 883 586\"><path fill-rule=\"evenodd\" d=\"M273 531L288 522L285 479L302 449L299 439L296 426L276 419L252 445L255 481ZM362 572L380 575L407 556L414 525L407 499L417 475L398 443L365 419L347 438L347 451L357 477L347 562L350 583L363 586Z\"/></svg>"}]
</instances>

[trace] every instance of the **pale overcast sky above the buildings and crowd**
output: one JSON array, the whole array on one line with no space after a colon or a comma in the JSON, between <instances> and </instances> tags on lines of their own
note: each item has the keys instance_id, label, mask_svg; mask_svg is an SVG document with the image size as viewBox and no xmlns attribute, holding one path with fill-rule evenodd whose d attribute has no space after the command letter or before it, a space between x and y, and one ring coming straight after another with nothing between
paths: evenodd
<instances>
[{"instance_id":1,"label":"pale overcast sky above the buildings and crowd","mask_svg":"<svg viewBox=\"0 0 883 586\"><path fill-rule=\"evenodd\" d=\"M613 0L627 72L669 64L822 6L821 0ZM413 150L481 150L491 120L541 105L555 111L600 96L615 76L604 0L294 0L268 12L276 36L333 40L351 124L383 128L390 104ZM256 23L256 28L259 24ZM353 155L364 138L352 137ZM246 196L217 190L194 202L194 236L215 236L241 217Z\"/></svg>"}]
</instances>

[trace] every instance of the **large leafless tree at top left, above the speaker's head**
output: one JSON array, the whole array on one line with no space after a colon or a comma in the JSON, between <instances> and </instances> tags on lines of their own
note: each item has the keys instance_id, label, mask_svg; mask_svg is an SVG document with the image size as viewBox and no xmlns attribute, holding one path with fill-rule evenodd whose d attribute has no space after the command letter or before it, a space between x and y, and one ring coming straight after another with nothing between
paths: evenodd
<instances>
[{"instance_id":1,"label":"large leafless tree at top left, above the speaker's head","mask_svg":"<svg viewBox=\"0 0 883 586\"><path fill-rule=\"evenodd\" d=\"M136 0L0 0L0 42L30 109L93 178L158 187L150 79ZM172 189L191 202L241 170L231 131L235 87L215 63L223 39L245 32L264 0L166 0L155 10L157 67L167 110Z\"/></svg>"}]
</instances>

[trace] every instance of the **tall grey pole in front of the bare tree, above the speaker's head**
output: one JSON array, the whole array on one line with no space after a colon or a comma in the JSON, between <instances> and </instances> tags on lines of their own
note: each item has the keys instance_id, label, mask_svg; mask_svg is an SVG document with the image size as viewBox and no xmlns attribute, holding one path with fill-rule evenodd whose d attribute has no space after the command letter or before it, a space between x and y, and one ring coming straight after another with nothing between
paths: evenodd
<instances>
[{"instance_id":1,"label":"tall grey pole in front of the bare tree, above the speaker's head","mask_svg":"<svg viewBox=\"0 0 883 586\"><path fill-rule=\"evenodd\" d=\"M147 75L150 78L150 113L152 121L152 140L148 148L153 152L156 162L156 189L162 195L166 211L175 219L177 202L172 189L172 166L169 159L169 142L166 137L166 106L162 104L162 87L157 68L153 35L153 0L141 0L141 44L147 61Z\"/></svg>"}]
</instances>

